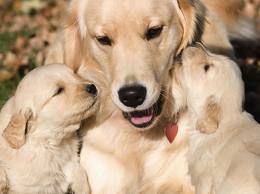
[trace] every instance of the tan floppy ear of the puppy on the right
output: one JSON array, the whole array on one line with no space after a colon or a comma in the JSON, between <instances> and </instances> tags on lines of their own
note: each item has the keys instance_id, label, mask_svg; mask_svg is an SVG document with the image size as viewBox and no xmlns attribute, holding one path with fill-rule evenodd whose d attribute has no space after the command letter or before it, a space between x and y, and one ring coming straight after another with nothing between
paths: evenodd
<instances>
[{"instance_id":1,"label":"tan floppy ear of the puppy on the right","mask_svg":"<svg viewBox=\"0 0 260 194\"><path fill-rule=\"evenodd\" d=\"M197 121L196 129L201 133L214 133L219 126L221 116L220 111L220 105L214 100L214 98L209 97L203 107L202 115Z\"/></svg>"}]
</instances>

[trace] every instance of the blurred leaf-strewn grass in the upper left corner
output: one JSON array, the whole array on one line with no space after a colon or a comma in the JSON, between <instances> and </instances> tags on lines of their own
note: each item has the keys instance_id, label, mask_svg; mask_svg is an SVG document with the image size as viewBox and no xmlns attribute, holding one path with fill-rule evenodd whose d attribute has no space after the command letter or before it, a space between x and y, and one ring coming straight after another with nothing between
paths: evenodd
<instances>
[{"instance_id":1,"label":"blurred leaf-strewn grass in the upper left corner","mask_svg":"<svg viewBox=\"0 0 260 194\"><path fill-rule=\"evenodd\" d=\"M42 65L61 26L66 0L0 0L0 108L17 83Z\"/></svg>"}]
</instances>

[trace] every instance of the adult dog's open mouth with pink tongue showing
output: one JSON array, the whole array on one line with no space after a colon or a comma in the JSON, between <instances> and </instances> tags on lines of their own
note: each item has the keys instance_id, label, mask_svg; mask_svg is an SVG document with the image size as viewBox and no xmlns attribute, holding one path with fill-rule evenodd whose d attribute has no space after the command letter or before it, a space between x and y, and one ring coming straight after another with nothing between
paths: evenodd
<instances>
[{"instance_id":1,"label":"adult dog's open mouth with pink tongue showing","mask_svg":"<svg viewBox=\"0 0 260 194\"><path fill-rule=\"evenodd\" d=\"M163 97L160 95L157 102L150 108L142 111L123 112L124 117L137 128L147 128L153 124L162 112Z\"/></svg>"}]
</instances>

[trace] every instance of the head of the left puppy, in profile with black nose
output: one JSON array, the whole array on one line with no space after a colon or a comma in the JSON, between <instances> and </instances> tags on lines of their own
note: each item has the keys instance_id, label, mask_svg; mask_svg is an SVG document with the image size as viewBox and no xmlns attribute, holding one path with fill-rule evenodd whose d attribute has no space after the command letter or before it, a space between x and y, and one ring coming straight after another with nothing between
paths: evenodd
<instances>
[{"instance_id":1,"label":"head of the left puppy, in profile with black nose","mask_svg":"<svg viewBox=\"0 0 260 194\"><path fill-rule=\"evenodd\" d=\"M10 119L3 137L13 148L27 137L60 141L75 132L97 109L97 88L83 82L65 65L47 65L30 72L3 108ZM5 112L5 110L8 110Z\"/></svg>"}]
</instances>

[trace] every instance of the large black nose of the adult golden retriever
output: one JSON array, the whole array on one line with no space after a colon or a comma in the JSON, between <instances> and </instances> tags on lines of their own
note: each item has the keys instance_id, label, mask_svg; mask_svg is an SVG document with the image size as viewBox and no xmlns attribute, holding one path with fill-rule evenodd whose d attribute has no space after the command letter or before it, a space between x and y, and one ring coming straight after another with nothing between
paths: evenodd
<instances>
[{"instance_id":1,"label":"large black nose of the adult golden retriever","mask_svg":"<svg viewBox=\"0 0 260 194\"><path fill-rule=\"evenodd\" d=\"M120 101L127 107L136 108L146 98L146 88L140 85L123 87L118 91Z\"/></svg>"}]
</instances>

